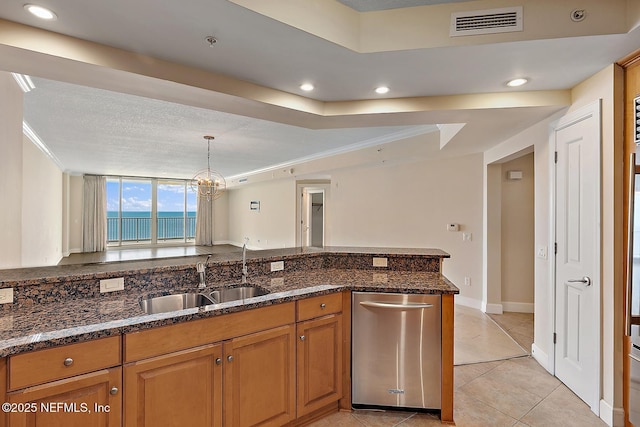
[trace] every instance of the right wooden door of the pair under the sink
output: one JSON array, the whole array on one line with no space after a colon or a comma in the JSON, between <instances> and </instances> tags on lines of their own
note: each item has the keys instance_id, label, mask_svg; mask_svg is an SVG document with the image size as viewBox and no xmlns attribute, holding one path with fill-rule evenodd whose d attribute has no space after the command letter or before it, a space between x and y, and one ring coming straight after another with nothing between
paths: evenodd
<instances>
[{"instance_id":1,"label":"right wooden door of the pair under the sink","mask_svg":"<svg viewBox=\"0 0 640 427\"><path fill-rule=\"evenodd\" d=\"M295 418L295 327L225 342L225 426L282 426Z\"/></svg>"}]
</instances>

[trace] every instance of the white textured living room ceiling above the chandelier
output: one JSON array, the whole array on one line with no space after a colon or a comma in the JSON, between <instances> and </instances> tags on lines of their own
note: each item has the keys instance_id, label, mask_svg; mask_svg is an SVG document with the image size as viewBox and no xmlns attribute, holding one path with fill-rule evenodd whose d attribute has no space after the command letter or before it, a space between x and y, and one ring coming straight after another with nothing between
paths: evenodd
<instances>
[{"instance_id":1,"label":"white textured living room ceiling above the chandelier","mask_svg":"<svg viewBox=\"0 0 640 427\"><path fill-rule=\"evenodd\" d=\"M191 178L206 167L224 176L434 132L436 126L312 130L41 78L25 95L25 120L64 170ZM176 161L179 159L178 161Z\"/></svg>"}]
</instances>

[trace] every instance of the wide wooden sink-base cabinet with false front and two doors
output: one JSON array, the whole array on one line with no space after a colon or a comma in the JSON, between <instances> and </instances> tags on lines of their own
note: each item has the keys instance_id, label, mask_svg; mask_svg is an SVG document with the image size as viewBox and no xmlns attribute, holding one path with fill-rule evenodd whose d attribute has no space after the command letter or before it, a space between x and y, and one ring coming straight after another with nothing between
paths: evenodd
<instances>
[{"instance_id":1,"label":"wide wooden sink-base cabinet with false front and two doors","mask_svg":"<svg viewBox=\"0 0 640 427\"><path fill-rule=\"evenodd\" d=\"M282 426L295 412L295 303L125 336L125 426Z\"/></svg>"}]
</instances>

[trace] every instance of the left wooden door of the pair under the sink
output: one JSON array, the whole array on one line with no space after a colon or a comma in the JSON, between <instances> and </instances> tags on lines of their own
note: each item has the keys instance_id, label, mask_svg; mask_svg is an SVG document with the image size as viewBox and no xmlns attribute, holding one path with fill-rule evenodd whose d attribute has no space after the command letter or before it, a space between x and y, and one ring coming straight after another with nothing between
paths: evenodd
<instances>
[{"instance_id":1,"label":"left wooden door of the pair under the sink","mask_svg":"<svg viewBox=\"0 0 640 427\"><path fill-rule=\"evenodd\" d=\"M126 427L222 425L222 345L124 367Z\"/></svg>"}]
</instances>

